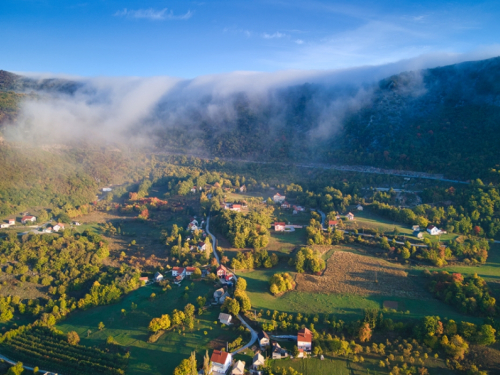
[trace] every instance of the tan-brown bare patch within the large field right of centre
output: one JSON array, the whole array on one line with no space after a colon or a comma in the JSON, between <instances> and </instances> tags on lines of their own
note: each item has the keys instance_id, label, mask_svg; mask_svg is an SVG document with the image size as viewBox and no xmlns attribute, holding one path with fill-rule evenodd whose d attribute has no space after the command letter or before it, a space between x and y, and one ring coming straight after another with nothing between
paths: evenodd
<instances>
[{"instance_id":1,"label":"tan-brown bare patch within the large field right of centre","mask_svg":"<svg viewBox=\"0 0 500 375\"><path fill-rule=\"evenodd\" d=\"M407 277L403 267L383 260L336 251L323 275L297 274L297 290L309 293L385 295L430 298L423 287Z\"/></svg>"}]
</instances>

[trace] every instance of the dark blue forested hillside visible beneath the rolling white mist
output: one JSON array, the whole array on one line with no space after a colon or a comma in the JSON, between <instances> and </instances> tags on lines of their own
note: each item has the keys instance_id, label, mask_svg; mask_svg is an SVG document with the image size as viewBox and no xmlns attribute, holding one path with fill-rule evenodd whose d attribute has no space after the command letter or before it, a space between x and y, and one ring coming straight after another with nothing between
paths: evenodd
<instances>
[{"instance_id":1,"label":"dark blue forested hillside visible beneath the rolling white mist","mask_svg":"<svg viewBox=\"0 0 500 375\"><path fill-rule=\"evenodd\" d=\"M0 71L0 124L2 117L15 119L21 95L33 90L72 97L91 89ZM500 58L401 73L363 87L269 89L258 99L245 92L189 101L169 95L132 131L150 131L160 150L500 180Z\"/></svg>"}]
</instances>

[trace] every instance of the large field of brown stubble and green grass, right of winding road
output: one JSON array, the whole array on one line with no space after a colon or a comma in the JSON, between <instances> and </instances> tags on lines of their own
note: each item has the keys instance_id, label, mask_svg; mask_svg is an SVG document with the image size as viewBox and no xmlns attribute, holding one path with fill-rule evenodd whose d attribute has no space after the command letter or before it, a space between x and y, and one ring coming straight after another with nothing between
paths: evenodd
<instances>
[{"instance_id":1,"label":"large field of brown stubble and green grass, right of winding road","mask_svg":"<svg viewBox=\"0 0 500 375\"><path fill-rule=\"evenodd\" d=\"M419 270L361 255L363 250L353 245L330 246L330 250L326 246L322 248L327 259L322 276L297 274L284 263L272 269L238 272L247 280L252 306L257 310L294 314L334 314L347 321L362 318L366 308L382 309L385 301L394 301L398 304L398 312L385 313L394 319L439 315L457 321L480 322L434 299L425 290L427 281ZM268 281L278 272L292 273L297 286L275 297L269 292Z\"/></svg>"}]
</instances>

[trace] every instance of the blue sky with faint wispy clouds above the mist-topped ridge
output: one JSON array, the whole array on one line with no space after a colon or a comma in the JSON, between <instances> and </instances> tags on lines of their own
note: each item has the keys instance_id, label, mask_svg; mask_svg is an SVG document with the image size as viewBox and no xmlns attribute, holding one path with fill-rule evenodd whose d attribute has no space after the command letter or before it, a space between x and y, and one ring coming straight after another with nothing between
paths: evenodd
<instances>
[{"instance_id":1,"label":"blue sky with faint wispy clouds above the mist-topped ridge","mask_svg":"<svg viewBox=\"0 0 500 375\"><path fill-rule=\"evenodd\" d=\"M192 78L499 45L500 1L1 0L0 69Z\"/></svg>"}]
</instances>

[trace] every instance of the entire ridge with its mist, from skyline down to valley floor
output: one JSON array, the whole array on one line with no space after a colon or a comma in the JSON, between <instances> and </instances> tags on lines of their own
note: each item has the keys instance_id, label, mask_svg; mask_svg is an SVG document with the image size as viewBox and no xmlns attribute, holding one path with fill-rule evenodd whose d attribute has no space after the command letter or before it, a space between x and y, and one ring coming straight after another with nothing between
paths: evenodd
<instances>
[{"instance_id":1,"label":"entire ridge with its mist, from skyline down to valley floor","mask_svg":"<svg viewBox=\"0 0 500 375\"><path fill-rule=\"evenodd\" d=\"M0 72L8 139L252 160L366 164L497 180L500 58L410 70L182 80ZM391 72L405 71L391 75ZM0 119L1 120L1 119Z\"/></svg>"}]
</instances>

